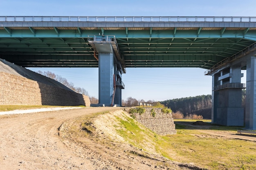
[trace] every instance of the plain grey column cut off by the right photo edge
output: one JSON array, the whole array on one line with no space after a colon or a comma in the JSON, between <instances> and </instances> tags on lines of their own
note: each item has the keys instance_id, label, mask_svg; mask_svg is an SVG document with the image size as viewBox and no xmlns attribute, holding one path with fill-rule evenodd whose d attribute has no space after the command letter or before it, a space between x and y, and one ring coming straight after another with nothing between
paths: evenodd
<instances>
[{"instance_id":1,"label":"plain grey column cut off by the right photo edge","mask_svg":"<svg viewBox=\"0 0 256 170\"><path fill-rule=\"evenodd\" d=\"M245 128L256 130L256 57L248 57L246 65Z\"/></svg>"}]
</instances>

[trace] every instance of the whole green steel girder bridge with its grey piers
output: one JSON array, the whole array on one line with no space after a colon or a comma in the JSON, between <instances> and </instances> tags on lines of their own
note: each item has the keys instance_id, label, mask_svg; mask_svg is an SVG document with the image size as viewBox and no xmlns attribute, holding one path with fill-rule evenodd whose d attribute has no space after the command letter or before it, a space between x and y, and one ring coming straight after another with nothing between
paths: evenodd
<instances>
[{"instance_id":1,"label":"whole green steel girder bridge with its grey piers","mask_svg":"<svg viewBox=\"0 0 256 170\"><path fill-rule=\"evenodd\" d=\"M0 58L23 67L99 67L99 104L121 105L126 68L198 67L213 77L212 122L245 121L248 129L256 129L255 42L256 17L0 16Z\"/></svg>"}]
</instances>

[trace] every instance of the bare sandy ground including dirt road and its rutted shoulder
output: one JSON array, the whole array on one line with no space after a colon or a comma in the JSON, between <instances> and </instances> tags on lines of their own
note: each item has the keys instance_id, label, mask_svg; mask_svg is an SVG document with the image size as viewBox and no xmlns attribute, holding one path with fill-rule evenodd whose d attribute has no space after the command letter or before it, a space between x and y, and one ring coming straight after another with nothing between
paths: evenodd
<instances>
[{"instance_id":1,"label":"bare sandy ground including dirt road and its rutted shoulder","mask_svg":"<svg viewBox=\"0 0 256 170\"><path fill-rule=\"evenodd\" d=\"M98 119L95 114L100 112L106 114L97 114ZM112 118L118 115L128 117L120 108L108 107L1 115L0 167L4 170L191 169L169 161L153 149L144 152L118 138L112 130L117 127ZM93 129L86 128L90 122Z\"/></svg>"}]
</instances>

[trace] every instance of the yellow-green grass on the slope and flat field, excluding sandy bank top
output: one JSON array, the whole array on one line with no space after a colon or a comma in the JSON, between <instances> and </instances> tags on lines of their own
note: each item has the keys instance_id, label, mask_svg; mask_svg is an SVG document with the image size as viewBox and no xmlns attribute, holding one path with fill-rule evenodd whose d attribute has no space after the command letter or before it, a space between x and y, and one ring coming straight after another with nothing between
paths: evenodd
<instances>
[{"instance_id":1,"label":"yellow-green grass on the slope and flat field, excluding sandy bank top","mask_svg":"<svg viewBox=\"0 0 256 170\"><path fill-rule=\"evenodd\" d=\"M254 170L256 169L256 144L254 141L227 139L207 135L203 130L193 129L176 122L177 135L159 136L141 129L134 119L120 119L123 129L117 133L135 147L143 148L147 140L162 156L181 163L194 163L211 170ZM183 120L183 119L182 119ZM186 119L191 121L191 119ZM195 120L193 120L194 122ZM207 120L210 121L210 120ZM236 134L237 128L209 124L212 130L229 130ZM147 148L143 148L147 150Z\"/></svg>"}]
</instances>

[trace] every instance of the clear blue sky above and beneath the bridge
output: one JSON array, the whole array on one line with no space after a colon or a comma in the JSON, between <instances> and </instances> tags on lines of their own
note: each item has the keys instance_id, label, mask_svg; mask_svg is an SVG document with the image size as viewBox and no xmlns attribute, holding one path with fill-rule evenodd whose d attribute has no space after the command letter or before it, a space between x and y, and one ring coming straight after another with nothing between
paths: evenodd
<instances>
[{"instance_id":1,"label":"clear blue sky above and beneath the bridge","mask_svg":"<svg viewBox=\"0 0 256 170\"><path fill-rule=\"evenodd\" d=\"M256 16L256 0L0 0L1 16ZM31 68L52 71L98 97L97 68ZM201 68L127 68L122 98L163 101L211 94ZM244 73L244 72L243 72ZM245 83L245 78L242 79Z\"/></svg>"}]
</instances>

